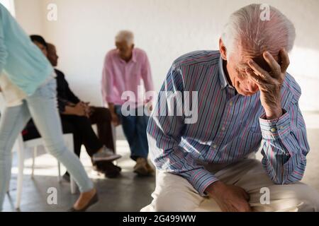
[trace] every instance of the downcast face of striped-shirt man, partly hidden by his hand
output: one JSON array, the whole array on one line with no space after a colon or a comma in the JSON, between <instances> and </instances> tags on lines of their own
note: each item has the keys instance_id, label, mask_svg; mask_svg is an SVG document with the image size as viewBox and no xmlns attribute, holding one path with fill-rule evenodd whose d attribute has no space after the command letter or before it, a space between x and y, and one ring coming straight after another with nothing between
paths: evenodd
<instances>
[{"instance_id":1,"label":"downcast face of striped-shirt man, partly hidden by his hand","mask_svg":"<svg viewBox=\"0 0 319 226\"><path fill-rule=\"evenodd\" d=\"M262 67L262 69L270 72L270 67L262 57L262 54L257 56L241 45L237 45L237 48L228 57L225 57L222 49L220 52L223 59L227 61L226 69L228 76L233 87L237 90L237 93L245 96L250 96L257 93L259 91L258 85L248 78L245 69L249 68L247 61L253 59L259 66ZM276 59L276 61L278 61L278 56L273 57Z\"/></svg>"}]
</instances>

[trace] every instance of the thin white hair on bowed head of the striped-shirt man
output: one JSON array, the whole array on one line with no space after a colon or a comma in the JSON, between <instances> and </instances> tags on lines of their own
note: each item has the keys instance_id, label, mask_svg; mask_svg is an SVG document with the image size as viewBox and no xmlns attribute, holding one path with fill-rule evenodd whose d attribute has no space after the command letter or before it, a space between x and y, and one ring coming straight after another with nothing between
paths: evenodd
<instances>
[{"instance_id":1,"label":"thin white hair on bowed head of the striped-shirt man","mask_svg":"<svg viewBox=\"0 0 319 226\"><path fill-rule=\"evenodd\" d=\"M265 50L278 54L279 49L289 52L296 38L293 23L278 9L269 7L269 18L265 18L264 4L251 4L233 13L225 25L221 39L228 57L240 45L253 55ZM267 16L267 15L266 15Z\"/></svg>"}]
</instances>

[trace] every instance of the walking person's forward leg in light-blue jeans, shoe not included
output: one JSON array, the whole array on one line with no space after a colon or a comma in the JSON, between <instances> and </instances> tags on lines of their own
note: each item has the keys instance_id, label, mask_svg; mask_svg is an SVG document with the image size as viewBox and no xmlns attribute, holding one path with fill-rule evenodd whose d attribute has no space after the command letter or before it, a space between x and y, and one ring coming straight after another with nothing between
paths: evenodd
<instances>
[{"instance_id":1,"label":"walking person's forward leg in light-blue jeans, shoe not included","mask_svg":"<svg viewBox=\"0 0 319 226\"><path fill-rule=\"evenodd\" d=\"M57 111L56 81L52 79L26 98L35 126L40 132L47 150L57 158L74 177L83 193L94 189L79 158L67 150L62 136L62 124Z\"/></svg>"}]
</instances>

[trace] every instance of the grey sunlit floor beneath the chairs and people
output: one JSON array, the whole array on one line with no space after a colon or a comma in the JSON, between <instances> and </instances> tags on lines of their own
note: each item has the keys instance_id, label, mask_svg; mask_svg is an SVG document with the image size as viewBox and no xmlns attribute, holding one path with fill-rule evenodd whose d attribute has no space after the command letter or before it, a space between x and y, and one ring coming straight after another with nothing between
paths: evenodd
<instances>
[{"instance_id":1,"label":"grey sunlit floor beneath the chairs and people","mask_svg":"<svg viewBox=\"0 0 319 226\"><path fill-rule=\"evenodd\" d=\"M310 153L303 182L313 186L319 191L319 114L304 114L307 128ZM118 138L121 139L121 134ZM82 162L89 176L94 179L99 190L100 201L90 208L90 211L138 211L150 203L150 194L155 189L155 177L136 177L132 172L134 162L128 157L128 144L126 141L117 142L118 153L123 158L118 165L123 168L122 176L117 179L105 179L91 169L89 157L82 151ZM35 178L30 179L30 153L26 153L26 170L23 184L21 211L65 211L77 199L78 194L71 195L69 184L57 182L57 162L47 155L40 153L36 159ZM260 157L260 155L257 155ZM16 157L13 157L12 179L10 196L6 196L4 211L15 211L13 203L16 200ZM57 189L57 205L47 204L47 189Z\"/></svg>"}]
</instances>

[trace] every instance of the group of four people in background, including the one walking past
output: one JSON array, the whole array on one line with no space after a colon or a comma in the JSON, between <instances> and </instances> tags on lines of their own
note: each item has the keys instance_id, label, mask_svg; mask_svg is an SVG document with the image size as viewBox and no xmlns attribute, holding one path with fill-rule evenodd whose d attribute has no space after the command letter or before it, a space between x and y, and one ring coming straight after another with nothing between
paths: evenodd
<instances>
[{"instance_id":1,"label":"group of four people in background, including the one walking past","mask_svg":"<svg viewBox=\"0 0 319 226\"><path fill-rule=\"evenodd\" d=\"M134 172L147 176L154 169L147 162L146 115L124 115L121 94L137 94L138 85L154 90L147 54L134 47L133 33L123 30L116 35L116 49L106 54L103 65L102 95L106 107L94 107L80 100L69 88L57 66L57 49L40 35L28 37L9 11L0 4L0 88L6 107L0 118L0 210L10 181L11 149L19 133L28 141L42 137L46 149L67 168L63 178L74 177L81 194L70 211L84 211L98 201L94 184L86 174L79 155L82 145L94 168L117 177L121 167L113 164L121 158L114 152L112 125L122 124L136 161ZM138 102L130 107L143 107ZM91 125L96 124L97 135ZM62 133L72 133L74 155L67 150Z\"/></svg>"}]
</instances>

